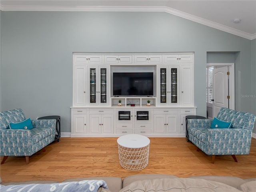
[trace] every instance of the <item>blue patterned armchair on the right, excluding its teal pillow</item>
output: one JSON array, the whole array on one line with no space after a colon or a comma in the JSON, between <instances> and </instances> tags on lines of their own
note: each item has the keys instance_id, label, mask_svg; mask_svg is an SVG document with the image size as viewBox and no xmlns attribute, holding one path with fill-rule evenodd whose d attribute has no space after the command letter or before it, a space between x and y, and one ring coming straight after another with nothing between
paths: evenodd
<instances>
[{"instance_id":1,"label":"blue patterned armchair on the right, excluding its teal pillow","mask_svg":"<svg viewBox=\"0 0 256 192\"><path fill-rule=\"evenodd\" d=\"M189 140L198 147L198 150L212 155L212 163L215 155L232 155L237 162L235 155L249 154L255 123L254 114L221 108L216 118L231 122L231 127L210 128L212 120L188 120Z\"/></svg>"}]
</instances>

